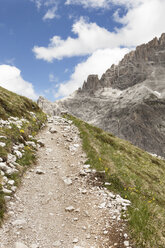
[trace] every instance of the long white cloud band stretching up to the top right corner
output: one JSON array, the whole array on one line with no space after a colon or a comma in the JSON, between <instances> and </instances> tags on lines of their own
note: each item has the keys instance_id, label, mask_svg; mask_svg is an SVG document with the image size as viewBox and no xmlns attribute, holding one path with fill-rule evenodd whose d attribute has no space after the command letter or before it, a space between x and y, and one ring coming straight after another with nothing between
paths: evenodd
<instances>
[{"instance_id":1,"label":"long white cloud band stretching up to the top right corner","mask_svg":"<svg viewBox=\"0 0 165 248\"><path fill-rule=\"evenodd\" d=\"M124 3L126 0L117 0ZM131 4L132 0L129 0ZM96 23L88 23L80 18L72 27L72 32L77 38L68 37L63 40L54 36L48 47L35 46L33 52L37 59L52 62L53 59L64 57L82 56L95 52L97 49L115 48L120 46L134 47L148 42L154 36L160 36L164 32L165 1L144 0L129 8L127 14L120 17L114 13L116 21L123 24L121 29L110 32L98 26Z\"/></svg>"}]
</instances>

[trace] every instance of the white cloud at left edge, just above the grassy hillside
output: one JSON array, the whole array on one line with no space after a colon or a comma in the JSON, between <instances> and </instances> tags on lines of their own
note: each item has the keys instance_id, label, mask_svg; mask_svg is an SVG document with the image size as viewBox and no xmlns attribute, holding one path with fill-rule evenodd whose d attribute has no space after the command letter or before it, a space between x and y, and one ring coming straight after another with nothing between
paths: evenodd
<instances>
[{"instance_id":1,"label":"white cloud at left edge, just above the grassy hillside","mask_svg":"<svg viewBox=\"0 0 165 248\"><path fill-rule=\"evenodd\" d=\"M10 65L0 65L0 86L36 100L38 98L33 85L21 77L21 71Z\"/></svg>"}]
</instances>

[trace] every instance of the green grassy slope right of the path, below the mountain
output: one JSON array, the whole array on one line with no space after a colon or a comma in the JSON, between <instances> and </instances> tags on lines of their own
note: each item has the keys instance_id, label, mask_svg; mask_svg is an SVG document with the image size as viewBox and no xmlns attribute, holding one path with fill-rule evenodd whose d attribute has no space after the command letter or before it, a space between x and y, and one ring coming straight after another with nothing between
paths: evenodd
<instances>
[{"instance_id":1,"label":"green grassy slope right of the path, below the mountain","mask_svg":"<svg viewBox=\"0 0 165 248\"><path fill-rule=\"evenodd\" d=\"M105 170L111 191L131 200L130 235L138 248L165 247L165 161L72 116L93 168Z\"/></svg>"}]
</instances>

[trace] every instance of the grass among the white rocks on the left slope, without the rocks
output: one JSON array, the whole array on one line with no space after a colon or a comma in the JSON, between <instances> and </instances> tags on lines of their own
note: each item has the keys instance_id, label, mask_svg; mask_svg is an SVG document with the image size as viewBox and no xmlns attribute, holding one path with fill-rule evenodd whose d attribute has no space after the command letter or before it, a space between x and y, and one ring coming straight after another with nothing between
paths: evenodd
<instances>
[{"instance_id":1,"label":"grass among the white rocks on the left slope, without the rocks","mask_svg":"<svg viewBox=\"0 0 165 248\"><path fill-rule=\"evenodd\" d=\"M35 113L35 116L30 114ZM33 138L46 121L46 115L40 110L38 105L26 97L19 96L2 87L0 87L0 119L7 120L9 117L25 118L29 123L24 123L21 130L14 124L12 128L0 127L0 136L5 136L7 139L0 138L0 142L5 142L6 146L0 146L0 157L6 161L7 154L12 153L13 144L23 143L25 145L24 155L20 160L17 160L20 167L19 173L12 175L10 178L15 180L15 185L18 185L20 178L26 168L35 161L35 151L32 147L26 146L26 141L35 141ZM32 138L29 138L32 135ZM5 211L5 201L2 189L2 177L0 175L0 223Z\"/></svg>"}]
</instances>

